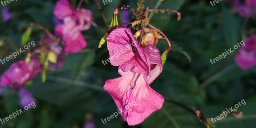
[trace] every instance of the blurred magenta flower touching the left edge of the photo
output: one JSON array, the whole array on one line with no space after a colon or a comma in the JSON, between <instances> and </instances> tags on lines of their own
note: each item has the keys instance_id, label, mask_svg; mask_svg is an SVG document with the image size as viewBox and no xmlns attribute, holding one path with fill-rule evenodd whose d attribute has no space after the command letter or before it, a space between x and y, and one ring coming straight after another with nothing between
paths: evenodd
<instances>
[{"instance_id":1,"label":"blurred magenta flower touching the left edge of the photo","mask_svg":"<svg viewBox=\"0 0 256 128\"><path fill-rule=\"evenodd\" d=\"M24 60L20 60L11 65L1 77L1 85L9 85L12 89L21 87L23 84L33 79L42 71L38 56L31 57L28 64Z\"/></svg>"}]
</instances>

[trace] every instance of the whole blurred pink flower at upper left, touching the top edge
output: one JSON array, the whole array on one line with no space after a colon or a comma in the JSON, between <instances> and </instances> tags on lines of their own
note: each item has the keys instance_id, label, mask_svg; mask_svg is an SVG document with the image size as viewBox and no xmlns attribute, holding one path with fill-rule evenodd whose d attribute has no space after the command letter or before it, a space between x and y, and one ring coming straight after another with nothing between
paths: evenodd
<instances>
[{"instance_id":1,"label":"whole blurred pink flower at upper left, touching the top edge","mask_svg":"<svg viewBox=\"0 0 256 128\"><path fill-rule=\"evenodd\" d=\"M75 53L85 48L87 43L81 31L91 27L92 12L87 9L75 9L68 0L58 1L53 12L58 19L64 21L55 31L62 38L65 53Z\"/></svg>"}]
</instances>

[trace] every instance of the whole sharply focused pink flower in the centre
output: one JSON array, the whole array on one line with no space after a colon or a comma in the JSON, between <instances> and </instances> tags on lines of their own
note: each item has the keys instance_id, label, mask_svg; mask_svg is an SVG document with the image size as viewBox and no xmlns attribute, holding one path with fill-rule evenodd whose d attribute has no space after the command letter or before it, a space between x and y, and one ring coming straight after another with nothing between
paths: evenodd
<instances>
[{"instance_id":1,"label":"whole sharply focused pink flower in the centre","mask_svg":"<svg viewBox=\"0 0 256 128\"><path fill-rule=\"evenodd\" d=\"M128 125L140 124L164 103L164 97L149 86L163 69L159 50L154 45L140 47L127 28L113 30L107 38L107 46L110 57L119 55L110 63L119 66L122 76L107 80L104 90L115 100ZM137 105L126 108L132 102Z\"/></svg>"}]
</instances>

